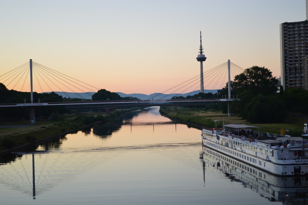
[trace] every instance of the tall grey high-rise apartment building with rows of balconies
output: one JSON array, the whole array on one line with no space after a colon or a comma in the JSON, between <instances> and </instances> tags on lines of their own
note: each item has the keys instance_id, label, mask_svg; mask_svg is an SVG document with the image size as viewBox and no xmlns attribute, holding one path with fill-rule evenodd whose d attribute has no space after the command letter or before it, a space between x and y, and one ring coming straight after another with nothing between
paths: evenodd
<instances>
[{"instance_id":1,"label":"tall grey high-rise apartment building with rows of balconies","mask_svg":"<svg viewBox=\"0 0 308 205\"><path fill-rule=\"evenodd\" d=\"M308 19L306 0L306 19ZM281 84L286 88L308 88L308 21L280 24ZM306 75L305 75L306 74Z\"/></svg>"}]
</instances>

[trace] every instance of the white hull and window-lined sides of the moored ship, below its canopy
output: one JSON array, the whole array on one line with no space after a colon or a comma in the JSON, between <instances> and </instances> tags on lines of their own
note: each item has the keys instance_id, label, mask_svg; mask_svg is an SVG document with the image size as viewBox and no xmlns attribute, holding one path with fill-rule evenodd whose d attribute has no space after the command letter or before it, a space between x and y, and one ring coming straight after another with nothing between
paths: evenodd
<instances>
[{"instance_id":1,"label":"white hull and window-lined sides of the moored ship, below its canopy","mask_svg":"<svg viewBox=\"0 0 308 205\"><path fill-rule=\"evenodd\" d=\"M251 139L232 133L225 129L224 131L203 129L202 144L227 156L221 156L222 160L230 162L236 159L275 176L308 174L306 141L292 142L288 140L289 137L285 137L290 144L286 145L282 141Z\"/></svg>"}]
</instances>

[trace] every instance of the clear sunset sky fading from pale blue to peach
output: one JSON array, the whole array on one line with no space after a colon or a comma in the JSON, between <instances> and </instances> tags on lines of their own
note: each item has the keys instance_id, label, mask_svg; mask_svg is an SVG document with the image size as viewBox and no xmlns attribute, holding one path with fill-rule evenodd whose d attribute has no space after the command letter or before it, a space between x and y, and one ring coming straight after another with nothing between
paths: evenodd
<instances>
[{"instance_id":1,"label":"clear sunset sky fading from pale blue to peach","mask_svg":"<svg viewBox=\"0 0 308 205\"><path fill-rule=\"evenodd\" d=\"M151 94L200 74L200 31L204 72L230 59L279 77L279 25L304 21L306 2L2 0L0 19L0 75L32 59L96 88Z\"/></svg>"}]
</instances>

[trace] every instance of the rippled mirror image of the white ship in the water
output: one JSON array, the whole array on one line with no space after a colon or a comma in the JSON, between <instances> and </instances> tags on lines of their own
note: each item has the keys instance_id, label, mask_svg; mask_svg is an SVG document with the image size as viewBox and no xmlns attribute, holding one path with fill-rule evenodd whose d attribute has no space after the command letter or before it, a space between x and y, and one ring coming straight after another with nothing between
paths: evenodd
<instances>
[{"instance_id":1,"label":"rippled mirror image of the white ship in the water","mask_svg":"<svg viewBox=\"0 0 308 205\"><path fill-rule=\"evenodd\" d=\"M306 204L308 200L308 176L276 177L203 146L204 174L205 166L213 166L231 181L242 183L244 188L257 192L269 201Z\"/></svg>"}]
</instances>

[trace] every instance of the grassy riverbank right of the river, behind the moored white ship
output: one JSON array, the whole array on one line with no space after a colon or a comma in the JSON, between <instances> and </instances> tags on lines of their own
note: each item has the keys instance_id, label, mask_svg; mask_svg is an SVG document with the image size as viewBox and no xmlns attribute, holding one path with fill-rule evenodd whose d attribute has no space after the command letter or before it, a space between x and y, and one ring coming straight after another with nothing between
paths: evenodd
<instances>
[{"instance_id":1,"label":"grassy riverbank right of the river, behind the moored white ship","mask_svg":"<svg viewBox=\"0 0 308 205\"><path fill-rule=\"evenodd\" d=\"M215 127L215 121L217 121L217 127L222 127L223 122L229 122L257 126L260 127L260 132L280 133L280 129L286 129L292 136L300 136L304 123L307 122L307 119L302 117L288 116L285 123L251 124L237 116L228 117L228 114L223 114L220 110L205 110L202 108L177 108L177 112L174 112L172 108L161 107L160 113L170 119L198 128Z\"/></svg>"}]
</instances>

